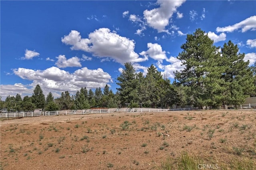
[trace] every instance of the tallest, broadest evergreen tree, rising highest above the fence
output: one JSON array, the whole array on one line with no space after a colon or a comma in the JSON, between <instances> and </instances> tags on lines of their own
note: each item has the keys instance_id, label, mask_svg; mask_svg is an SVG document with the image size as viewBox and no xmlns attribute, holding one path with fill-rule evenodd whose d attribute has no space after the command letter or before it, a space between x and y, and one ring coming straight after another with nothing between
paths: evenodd
<instances>
[{"instance_id":1,"label":"tallest, broadest evergreen tree, rising highest above the fence","mask_svg":"<svg viewBox=\"0 0 256 170\"><path fill-rule=\"evenodd\" d=\"M217 67L220 59L218 47L204 31L197 29L194 34L187 35L181 48L183 51L177 58L182 60L185 68L181 72L176 71L175 79L188 87L188 95L193 98L195 106L202 109L202 106L218 105L219 101L214 97L221 91L216 85L221 84L219 80L223 69Z\"/></svg>"}]
</instances>

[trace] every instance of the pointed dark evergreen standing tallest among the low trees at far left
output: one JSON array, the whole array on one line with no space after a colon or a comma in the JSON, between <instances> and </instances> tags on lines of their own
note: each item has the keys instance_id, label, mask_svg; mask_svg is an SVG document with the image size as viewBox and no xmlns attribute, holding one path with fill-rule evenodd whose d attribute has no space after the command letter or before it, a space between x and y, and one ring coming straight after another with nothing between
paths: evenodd
<instances>
[{"instance_id":1,"label":"pointed dark evergreen standing tallest among the low trees at far left","mask_svg":"<svg viewBox=\"0 0 256 170\"><path fill-rule=\"evenodd\" d=\"M34 93L31 97L32 103L35 104L36 108L44 109L45 106L45 97L40 85L36 85L34 88Z\"/></svg>"}]
</instances>

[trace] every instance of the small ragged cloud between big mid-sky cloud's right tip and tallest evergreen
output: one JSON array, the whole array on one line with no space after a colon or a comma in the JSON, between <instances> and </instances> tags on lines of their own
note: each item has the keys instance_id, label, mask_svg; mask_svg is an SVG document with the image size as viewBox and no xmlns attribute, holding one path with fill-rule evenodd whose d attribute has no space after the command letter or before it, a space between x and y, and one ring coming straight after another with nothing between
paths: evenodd
<instances>
[{"instance_id":1,"label":"small ragged cloud between big mid-sky cloud's right tip and tallest evergreen","mask_svg":"<svg viewBox=\"0 0 256 170\"><path fill-rule=\"evenodd\" d=\"M166 78L173 79L175 77L173 72L183 70L185 67L184 65L181 65L182 61L180 61L176 57L170 57L166 61L170 62L171 64L162 65L162 63L160 63L160 62L157 63L158 68L161 70L164 70L164 71L161 71L161 73L162 73L162 75L165 75Z\"/></svg>"}]
</instances>

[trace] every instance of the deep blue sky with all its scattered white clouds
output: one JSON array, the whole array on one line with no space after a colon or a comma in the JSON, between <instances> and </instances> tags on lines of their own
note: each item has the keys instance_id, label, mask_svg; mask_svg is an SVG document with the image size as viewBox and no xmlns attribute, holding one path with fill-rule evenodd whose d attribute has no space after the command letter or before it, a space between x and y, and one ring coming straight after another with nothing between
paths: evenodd
<instances>
[{"instance_id":1,"label":"deep blue sky with all its scattered white clouds","mask_svg":"<svg viewBox=\"0 0 256 170\"><path fill-rule=\"evenodd\" d=\"M201 28L256 61L256 1L0 1L0 95L47 96L106 84L116 91L125 62L171 81L186 34Z\"/></svg>"}]
</instances>

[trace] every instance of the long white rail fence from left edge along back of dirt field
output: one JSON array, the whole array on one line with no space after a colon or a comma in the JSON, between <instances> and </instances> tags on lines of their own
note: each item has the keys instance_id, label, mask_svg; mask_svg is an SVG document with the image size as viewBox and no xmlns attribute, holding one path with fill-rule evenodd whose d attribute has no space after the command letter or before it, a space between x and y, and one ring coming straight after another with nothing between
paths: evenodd
<instances>
[{"instance_id":1,"label":"long white rail fence from left edge along back of dirt field","mask_svg":"<svg viewBox=\"0 0 256 170\"><path fill-rule=\"evenodd\" d=\"M114 112L165 112L165 111L190 111L197 110L197 107L184 109L154 109L154 108L112 108L112 109L87 109L87 110L70 110L70 111L46 111L46 112L25 112L25 113L0 113L0 118L3 117L33 117L33 116L53 116L53 115L84 115L96 113L114 113Z\"/></svg>"}]
</instances>

